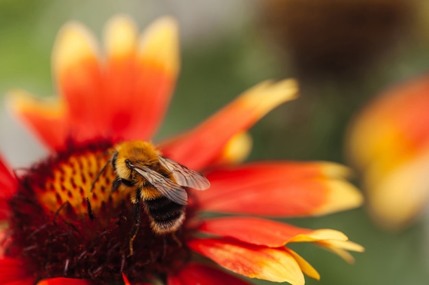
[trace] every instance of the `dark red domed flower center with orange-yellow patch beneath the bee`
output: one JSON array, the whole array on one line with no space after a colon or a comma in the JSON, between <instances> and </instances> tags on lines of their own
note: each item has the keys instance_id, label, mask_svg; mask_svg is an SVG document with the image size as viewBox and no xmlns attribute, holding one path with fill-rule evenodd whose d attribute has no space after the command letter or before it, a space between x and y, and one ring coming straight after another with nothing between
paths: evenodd
<instances>
[{"instance_id":1,"label":"dark red domed flower center with orange-yellow patch beneath the bee","mask_svg":"<svg viewBox=\"0 0 429 285\"><path fill-rule=\"evenodd\" d=\"M66 151L36 164L19 177L10 200L10 237L6 254L21 258L37 279L76 277L95 283L162 280L190 258L186 227L157 235L141 211L141 225L130 256L135 224L130 193L112 192L114 171L107 167L110 143L70 145ZM92 185L94 186L92 187ZM92 189L91 189L92 188ZM190 201L186 216L193 216Z\"/></svg>"}]
</instances>

